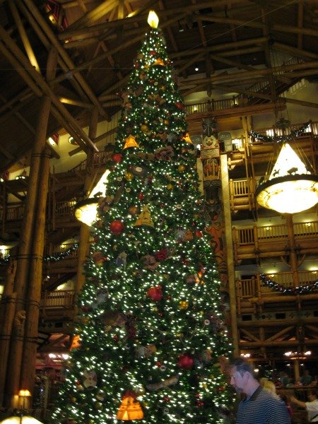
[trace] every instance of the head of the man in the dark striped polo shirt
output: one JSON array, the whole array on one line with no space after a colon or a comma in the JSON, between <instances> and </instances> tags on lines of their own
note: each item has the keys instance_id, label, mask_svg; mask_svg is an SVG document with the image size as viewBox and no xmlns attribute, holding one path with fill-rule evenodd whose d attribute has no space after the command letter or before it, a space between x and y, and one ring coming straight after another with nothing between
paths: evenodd
<instances>
[{"instance_id":1,"label":"head of the man in the dark striped polo shirt","mask_svg":"<svg viewBox=\"0 0 318 424\"><path fill-rule=\"evenodd\" d=\"M251 365L246 360L238 358L234 360L230 368L230 384L238 393L246 393L250 396L259 386L259 382L254 378Z\"/></svg>"}]
</instances>

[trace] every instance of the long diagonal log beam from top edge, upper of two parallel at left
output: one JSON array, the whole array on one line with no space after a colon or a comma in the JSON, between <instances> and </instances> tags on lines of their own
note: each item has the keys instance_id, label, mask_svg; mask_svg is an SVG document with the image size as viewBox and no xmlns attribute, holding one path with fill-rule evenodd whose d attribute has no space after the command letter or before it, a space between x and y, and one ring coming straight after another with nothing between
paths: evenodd
<instances>
[{"instance_id":1,"label":"long diagonal log beam from top edge, upper of two parallel at left","mask_svg":"<svg viewBox=\"0 0 318 424\"><path fill-rule=\"evenodd\" d=\"M54 45L54 47L57 49L57 52L59 53L59 56L65 61L66 66L69 67L69 69L74 69L75 65L73 64L73 61L69 57L69 54L61 47L61 44L59 43L59 40L57 40L57 37L54 35L53 31L41 15L40 11L38 11L37 7L33 3L32 0L23 0L25 4L28 6L30 13L33 14L34 18L37 20L38 23L40 23L40 26L42 30L44 31L45 35L47 35L49 41ZM88 98L91 102L98 108L98 112L105 116L106 112L103 110L102 105L98 101L98 98L95 96L95 93L93 93L93 90L88 86L88 83L86 82L85 78L81 75L81 73L72 73L74 78L78 81L78 83L81 85L83 90L85 90L86 95L88 95Z\"/></svg>"}]
</instances>

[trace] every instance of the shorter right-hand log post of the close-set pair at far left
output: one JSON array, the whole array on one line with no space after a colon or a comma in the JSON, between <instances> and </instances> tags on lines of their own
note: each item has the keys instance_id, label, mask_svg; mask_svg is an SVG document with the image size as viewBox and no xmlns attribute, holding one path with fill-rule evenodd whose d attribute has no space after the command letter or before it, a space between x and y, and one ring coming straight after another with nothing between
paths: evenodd
<instances>
[{"instance_id":1,"label":"shorter right-hand log post of the close-set pair at far left","mask_svg":"<svg viewBox=\"0 0 318 424\"><path fill-rule=\"evenodd\" d=\"M20 373L20 387L25 387L33 394L35 382L35 363L37 353L37 334L39 326L41 287L42 287L42 257L45 247L45 211L49 189L49 158L50 150L46 146L42 155L40 181L37 187L37 215L33 235L33 256L30 261L30 277L28 298L26 302L25 338L23 358Z\"/></svg>"}]
</instances>

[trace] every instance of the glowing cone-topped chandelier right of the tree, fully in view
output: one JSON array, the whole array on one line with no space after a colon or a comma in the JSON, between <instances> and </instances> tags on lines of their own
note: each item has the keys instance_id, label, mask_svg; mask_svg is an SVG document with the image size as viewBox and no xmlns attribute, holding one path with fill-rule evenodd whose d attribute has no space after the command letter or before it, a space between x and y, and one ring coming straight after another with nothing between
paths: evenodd
<instances>
[{"instance_id":1,"label":"glowing cone-topped chandelier right of the tree, fully in view","mask_svg":"<svg viewBox=\"0 0 318 424\"><path fill-rule=\"evenodd\" d=\"M318 175L311 174L290 144L283 143L271 175L255 192L257 203L279 213L307 211L318 202Z\"/></svg>"}]
</instances>

